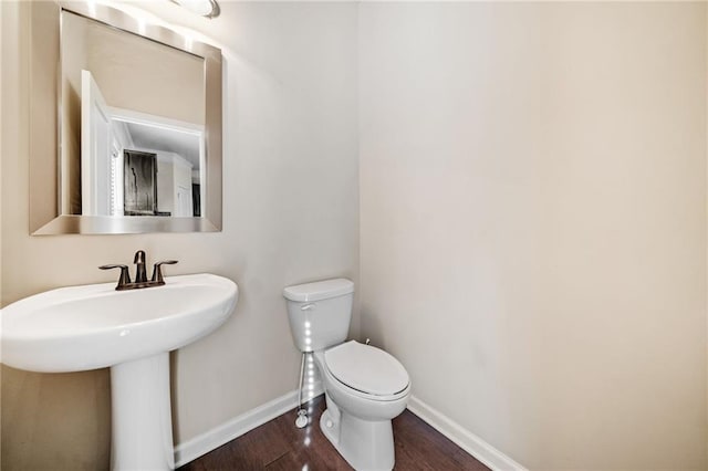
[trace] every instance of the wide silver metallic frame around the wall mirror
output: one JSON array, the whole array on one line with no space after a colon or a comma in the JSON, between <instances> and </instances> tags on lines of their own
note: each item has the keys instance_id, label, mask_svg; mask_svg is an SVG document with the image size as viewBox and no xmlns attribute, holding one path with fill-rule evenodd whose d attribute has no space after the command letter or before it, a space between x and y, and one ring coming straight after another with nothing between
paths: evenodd
<instances>
[{"instance_id":1,"label":"wide silver metallic frame around the wall mirror","mask_svg":"<svg viewBox=\"0 0 708 471\"><path fill-rule=\"evenodd\" d=\"M221 50L146 24L104 4L77 1L30 6L30 233L126 234L217 232L222 222ZM81 216L61 209L61 12L63 10L205 60L206 213L202 217Z\"/></svg>"}]
</instances>

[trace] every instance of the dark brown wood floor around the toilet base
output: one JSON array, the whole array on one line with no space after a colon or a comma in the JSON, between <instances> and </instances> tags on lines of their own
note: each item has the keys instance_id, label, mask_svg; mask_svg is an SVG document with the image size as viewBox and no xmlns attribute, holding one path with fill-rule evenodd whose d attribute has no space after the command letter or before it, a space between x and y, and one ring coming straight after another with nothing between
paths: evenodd
<instances>
[{"instance_id":1,"label":"dark brown wood floor around the toilet base","mask_svg":"<svg viewBox=\"0 0 708 471\"><path fill-rule=\"evenodd\" d=\"M295 428L296 416L291 410L179 470L351 470L320 431L324 396L314 398L309 410L310 423L304 429ZM393 426L396 470L488 470L408 410Z\"/></svg>"}]
</instances>

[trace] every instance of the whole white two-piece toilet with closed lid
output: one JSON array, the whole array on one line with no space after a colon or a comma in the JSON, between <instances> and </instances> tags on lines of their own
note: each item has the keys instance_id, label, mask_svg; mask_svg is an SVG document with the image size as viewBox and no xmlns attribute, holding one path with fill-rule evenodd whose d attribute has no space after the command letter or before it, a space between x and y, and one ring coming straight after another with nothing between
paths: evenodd
<instances>
[{"instance_id":1,"label":"whole white two-piece toilet with closed lid","mask_svg":"<svg viewBox=\"0 0 708 471\"><path fill-rule=\"evenodd\" d=\"M312 353L326 401L320 428L358 471L394 467L391 420L406 408L410 379L392 355L344 342L352 318L354 283L324 280L283 290L295 346Z\"/></svg>"}]
</instances>

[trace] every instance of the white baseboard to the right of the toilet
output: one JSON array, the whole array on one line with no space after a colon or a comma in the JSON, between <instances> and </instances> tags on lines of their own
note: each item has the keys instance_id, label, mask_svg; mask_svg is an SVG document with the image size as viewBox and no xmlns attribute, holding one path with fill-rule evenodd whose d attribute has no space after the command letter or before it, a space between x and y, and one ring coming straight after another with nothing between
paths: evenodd
<instances>
[{"instance_id":1,"label":"white baseboard to the right of the toilet","mask_svg":"<svg viewBox=\"0 0 708 471\"><path fill-rule=\"evenodd\" d=\"M524 467L417 397L410 396L408 410L492 470L527 471Z\"/></svg>"}]
</instances>

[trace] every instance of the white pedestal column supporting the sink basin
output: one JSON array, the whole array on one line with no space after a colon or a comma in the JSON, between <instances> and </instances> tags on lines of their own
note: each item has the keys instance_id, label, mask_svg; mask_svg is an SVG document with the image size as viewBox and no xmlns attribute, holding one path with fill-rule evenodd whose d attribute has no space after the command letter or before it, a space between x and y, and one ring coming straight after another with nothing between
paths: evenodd
<instances>
[{"instance_id":1,"label":"white pedestal column supporting the sink basin","mask_svg":"<svg viewBox=\"0 0 708 471\"><path fill-rule=\"evenodd\" d=\"M111 400L111 469L174 469L169 353L112 366Z\"/></svg>"}]
</instances>

